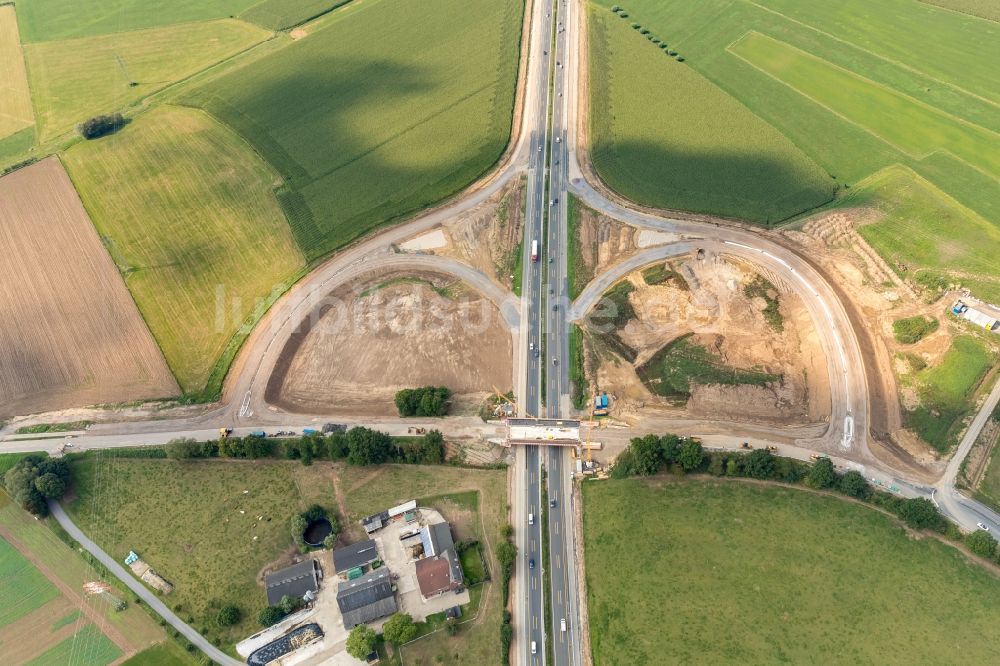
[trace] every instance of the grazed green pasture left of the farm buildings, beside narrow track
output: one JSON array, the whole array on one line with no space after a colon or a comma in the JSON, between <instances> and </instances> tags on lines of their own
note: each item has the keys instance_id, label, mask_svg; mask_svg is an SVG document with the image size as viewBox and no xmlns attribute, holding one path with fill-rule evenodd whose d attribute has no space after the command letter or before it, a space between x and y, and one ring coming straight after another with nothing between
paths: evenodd
<instances>
[{"instance_id":1,"label":"grazed green pasture left of the farm buildings, beside narrow track","mask_svg":"<svg viewBox=\"0 0 1000 666\"><path fill-rule=\"evenodd\" d=\"M292 546L288 521L305 508L298 463L95 455L71 464L74 522L112 557L134 550L173 583L164 602L182 619L223 647L259 628L267 598L257 573ZM243 620L223 629L215 616L229 602Z\"/></svg>"}]
</instances>

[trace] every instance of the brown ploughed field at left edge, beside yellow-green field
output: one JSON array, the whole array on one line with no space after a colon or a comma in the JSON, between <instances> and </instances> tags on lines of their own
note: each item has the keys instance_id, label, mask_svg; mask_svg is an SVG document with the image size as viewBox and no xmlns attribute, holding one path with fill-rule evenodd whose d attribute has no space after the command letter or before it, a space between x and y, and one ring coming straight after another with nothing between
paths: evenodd
<instances>
[{"instance_id":1,"label":"brown ploughed field at left edge, beside yellow-green field","mask_svg":"<svg viewBox=\"0 0 1000 666\"><path fill-rule=\"evenodd\" d=\"M0 416L177 384L62 165L0 179Z\"/></svg>"}]
</instances>

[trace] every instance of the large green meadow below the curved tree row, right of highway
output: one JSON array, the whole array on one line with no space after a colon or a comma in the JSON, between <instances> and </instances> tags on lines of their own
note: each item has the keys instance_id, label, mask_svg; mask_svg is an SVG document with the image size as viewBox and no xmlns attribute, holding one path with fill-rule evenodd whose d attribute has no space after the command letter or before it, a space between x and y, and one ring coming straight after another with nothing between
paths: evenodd
<instances>
[{"instance_id":1,"label":"large green meadow below the curved tree row, right of highway","mask_svg":"<svg viewBox=\"0 0 1000 666\"><path fill-rule=\"evenodd\" d=\"M595 664L985 664L1000 648L996 577L869 507L708 480L583 498Z\"/></svg>"}]
</instances>

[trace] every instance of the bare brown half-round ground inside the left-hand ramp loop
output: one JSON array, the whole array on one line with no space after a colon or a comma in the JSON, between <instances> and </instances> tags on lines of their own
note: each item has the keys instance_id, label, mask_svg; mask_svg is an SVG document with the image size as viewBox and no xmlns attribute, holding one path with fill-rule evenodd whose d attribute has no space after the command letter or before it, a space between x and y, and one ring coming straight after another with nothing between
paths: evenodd
<instances>
[{"instance_id":1,"label":"bare brown half-round ground inside the left-hand ramp loop","mask_svg":"<svg viewBox=\"0 0 1000 666\"><path fill-rule=\"evenodd\" d=\"M436 274L382 274L341 287L282 351L267 400L293 412L393 416L402 388L447 386L452 413L511 386L500 311ZM315 323L313 323L315 322Z\"/></svg>"}]
</instances>

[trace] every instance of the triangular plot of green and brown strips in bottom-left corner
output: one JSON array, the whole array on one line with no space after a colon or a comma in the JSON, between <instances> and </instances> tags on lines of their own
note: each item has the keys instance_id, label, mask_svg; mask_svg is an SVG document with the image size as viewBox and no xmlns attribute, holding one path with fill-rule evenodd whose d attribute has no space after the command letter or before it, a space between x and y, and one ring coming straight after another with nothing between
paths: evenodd
<instances>
[{"instance_id":1,"label":"triangular plot of green and brown strips in bottom-left corner","mask_svg":"<svg viewBox=\"0 0 1000 666\"><path fill-rule=\"evenodd\" d=\"M21 569L13 581L12 552ZM115 611L101 596L85 594L84 583L106 581L103 575L2 491L0 562L2 589L9 592L0 610L5 664L107 664L166 639L143 608L130 603L125 610ZM18 596L26 589L24 572L33 577L30 610L24 597ZM114 586L112 593L130 599ZM11 608L21 611L13 621L6 612Z\"/></svg>"}]
</instances>

